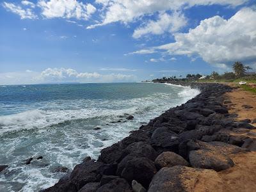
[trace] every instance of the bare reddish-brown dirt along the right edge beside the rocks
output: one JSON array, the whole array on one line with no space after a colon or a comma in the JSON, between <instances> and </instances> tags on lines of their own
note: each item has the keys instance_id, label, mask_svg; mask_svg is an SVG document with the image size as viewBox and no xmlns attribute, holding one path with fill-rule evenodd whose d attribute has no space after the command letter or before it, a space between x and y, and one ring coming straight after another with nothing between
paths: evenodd
<instances>
[{"instance_id":1,"label":"bare reddish-brown dirt along the right edge beside the rocks","mask_svg":"<svg viewBox=\"0 0 256 192\"><path fill-rule=\"evenodd\" d=\"M237 84L229 85L237 87ZM229 99L232 102L227 104L227 106L229 113L236 113L238 115L235 120L239 121L246 118L250 120L256 119L256 94L237 88L230 93L226 93L225 99ZM244 104L250 105L253 108L245 109L242 107ZM252 125L256 126L256 124ZM256 129L250 130L250 132L256 133ZM230 136L248 136L248 132L227 131L227 134L230 134ZM250 138L256 138L256 134L252 134ZM196 191L256 191L256 152L241 152L239 154L233 154L230 158L234 161L235 166L218 172L220 179L218 177L201 177L199 179L202 184L211 182L215 186L213 190L205 189L204 185L198 184L195 187Z\"/></svg>"}]
</instances>

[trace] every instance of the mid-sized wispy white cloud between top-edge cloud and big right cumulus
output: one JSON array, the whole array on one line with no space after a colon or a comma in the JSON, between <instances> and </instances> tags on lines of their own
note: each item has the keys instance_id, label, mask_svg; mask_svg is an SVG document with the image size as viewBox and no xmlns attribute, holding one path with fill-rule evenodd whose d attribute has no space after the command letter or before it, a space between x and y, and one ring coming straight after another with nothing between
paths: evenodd
<instances>
[{"instance_id":1,"label":"mid-sized wispy white cloud between top-edge cloud and big right cumulus","mask_svg":"<svg viewBox=\"0 0 256 192\"><path fill-rule=\"evenodd\" d=\"M174 12L172 15L161 13L159 14L158 20L149 20L144 26L135 29L132 36L134 38L140 38L147 34L161 35L166 32L174 33L186 26L186 23L186 18L179 12Z\"/></svg>"}]
</instances>

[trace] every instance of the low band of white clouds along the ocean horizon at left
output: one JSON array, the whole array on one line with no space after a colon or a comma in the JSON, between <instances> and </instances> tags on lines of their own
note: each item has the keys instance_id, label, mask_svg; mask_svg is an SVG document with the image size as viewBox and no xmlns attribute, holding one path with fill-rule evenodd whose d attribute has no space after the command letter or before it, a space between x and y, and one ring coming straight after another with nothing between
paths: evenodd
<instances>
[{"instance_id":1,"label":"low band of white clouds along the ocean horizon at left","mask_svg":"<svg viewBox=\"0 0 256 192\"><path fill-rule=\"evenodd\" d=\"M100 74L98 72L77 72L73 68L46 68L42 72L0 73L0 84L38 84L38 83L111 83L132 82L138 78L128 74Z\"/></svg>"}]
</instances>

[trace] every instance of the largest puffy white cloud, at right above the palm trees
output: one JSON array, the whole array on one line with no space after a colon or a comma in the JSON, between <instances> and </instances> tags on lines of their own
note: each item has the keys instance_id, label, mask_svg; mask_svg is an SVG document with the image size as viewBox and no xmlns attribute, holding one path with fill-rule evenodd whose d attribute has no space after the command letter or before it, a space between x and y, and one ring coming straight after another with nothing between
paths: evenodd
<instances>
[{"instance_id":1,"label":"largest puffy white cloud, at right above the palm trees","mask_svg":"<svg viewBox=\"0 0 256 192\"><path fill-rule=\"evenodd\" d=\"M171 55L199 56L217 67L227 67L234 61L256 61L256 11L239 10L226 20L220 16L202 20L188 33L176 33L175 42L151 48ZM145 51L145 50L143 50ZM140 54L140 51L136 51Z\"/></svg>"}]
</instances>

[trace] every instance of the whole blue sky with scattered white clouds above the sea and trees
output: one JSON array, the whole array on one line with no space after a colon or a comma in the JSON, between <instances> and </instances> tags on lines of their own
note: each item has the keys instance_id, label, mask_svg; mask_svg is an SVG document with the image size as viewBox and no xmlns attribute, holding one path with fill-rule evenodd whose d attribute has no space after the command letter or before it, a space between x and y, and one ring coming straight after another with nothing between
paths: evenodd
<instances>
[{"instance_id":1,"label":"whole blue sky with scattered white clouds above the sea and trees","mask_svg":"<svg viewBox=\"0 0 256 192\"><path fill-rule=\"evenodd\" d=\"M0 84L256 70L255 0L0 1Z\"/></svg>"}]
</instances>

